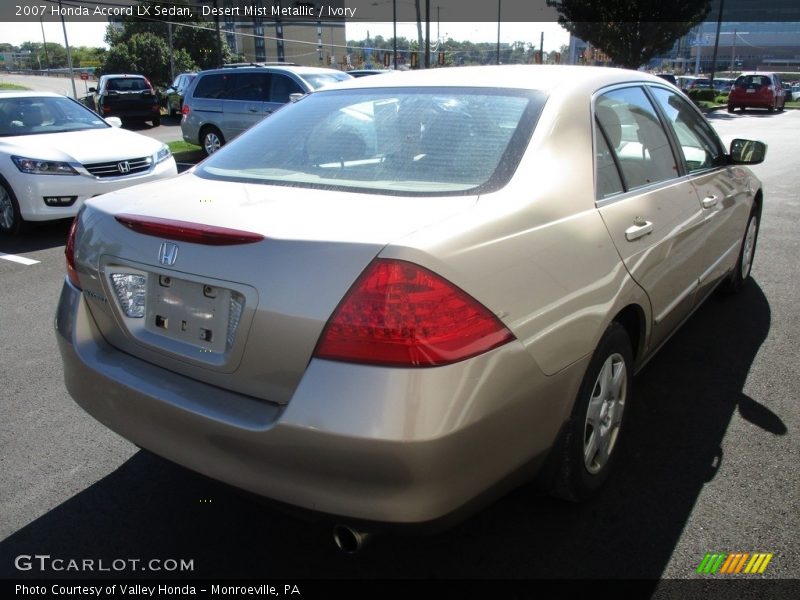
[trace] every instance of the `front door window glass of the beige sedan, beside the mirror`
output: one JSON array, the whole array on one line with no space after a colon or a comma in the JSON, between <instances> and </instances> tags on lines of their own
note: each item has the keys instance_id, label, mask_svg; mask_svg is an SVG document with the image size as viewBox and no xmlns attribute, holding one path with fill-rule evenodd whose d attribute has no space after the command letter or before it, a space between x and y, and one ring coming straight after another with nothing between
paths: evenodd
<instances>
[{"instance_id":1,"label":"front door window glass of the beige sedan, beside the mirror","mask_svg":"<svg viewBox=\"0 0 800 600\"><path fill-rule=\"evenodd\" d=\"M688 171L695 173L723 166L725 152L711 125L677 94L664 88L651 89L656 102L675 130Z\"/></svg>"}]
</instances>

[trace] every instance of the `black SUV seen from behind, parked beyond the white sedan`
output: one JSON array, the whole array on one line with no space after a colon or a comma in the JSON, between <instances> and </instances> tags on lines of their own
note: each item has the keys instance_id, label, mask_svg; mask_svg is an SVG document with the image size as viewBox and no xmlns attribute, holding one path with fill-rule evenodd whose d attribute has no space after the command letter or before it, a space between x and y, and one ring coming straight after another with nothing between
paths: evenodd
<instances>
[{"instance_id":1,"label":"black SUV seen from behind, parked beyond the white sedan","mask_svg":"<svg viewBox=\"0 0 800 600\"><path fill-rule=\"evenodd\" d=\"M103 75L94 93L94 109L103 117L161 124L161 106L153 85L144 75Z\"/></svg>"}]
</instances>

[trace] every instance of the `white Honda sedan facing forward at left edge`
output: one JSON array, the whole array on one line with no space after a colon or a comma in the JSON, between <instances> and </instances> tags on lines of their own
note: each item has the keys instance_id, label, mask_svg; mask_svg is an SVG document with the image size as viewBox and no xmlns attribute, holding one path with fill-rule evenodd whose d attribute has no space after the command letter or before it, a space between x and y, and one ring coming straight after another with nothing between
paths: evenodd
<instances>
[{"instance_id":1,"label":"white Honda sedan facing forward at left edge","mask_svg":"<svg viewBox=\"0 0 800 600\"><path fill-rule=\"evenodd\" d=\"M0 235L84 200L177 174L169 148L50 92L0 92Z\"/></svg>"}]
</instances>

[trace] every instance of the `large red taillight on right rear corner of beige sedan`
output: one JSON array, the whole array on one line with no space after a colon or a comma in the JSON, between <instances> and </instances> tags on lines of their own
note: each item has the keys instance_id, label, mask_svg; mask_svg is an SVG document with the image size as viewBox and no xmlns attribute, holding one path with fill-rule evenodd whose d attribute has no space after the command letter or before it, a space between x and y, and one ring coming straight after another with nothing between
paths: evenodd
<instances>
[{"instance_id":1,"label":"large red taillight on right rear corner of beige sedan","mask_svg":"<svg viewBox=\"0 0 800 600\"><path fill-rule=\"evenodd\" d=\"M433 367L482 354L514 339L477 300L435 273L378 259L334 311L317 358L397 367Z\"/></svg>"}]
</instances>

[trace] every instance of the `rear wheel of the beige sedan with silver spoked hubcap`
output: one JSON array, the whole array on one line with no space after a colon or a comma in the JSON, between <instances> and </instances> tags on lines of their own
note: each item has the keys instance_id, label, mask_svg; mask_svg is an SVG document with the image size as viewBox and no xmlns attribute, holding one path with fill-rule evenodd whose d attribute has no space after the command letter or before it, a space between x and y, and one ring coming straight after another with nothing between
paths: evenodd
<instances>
[{"instance_id":1,"label":"rear wheel of the beige sedan with silver spoked hubcap","mask_svg":"<svg viewBox=\"0 0 800 600\"><path fill-rule=\"evenodd\" d=\"M561 441L552 493L580 502L594 496L616 460L625 408L633 387L628 332L611 323L592 355Z\"/></svg>"}]
</instances>

